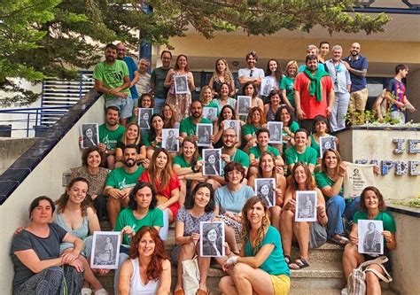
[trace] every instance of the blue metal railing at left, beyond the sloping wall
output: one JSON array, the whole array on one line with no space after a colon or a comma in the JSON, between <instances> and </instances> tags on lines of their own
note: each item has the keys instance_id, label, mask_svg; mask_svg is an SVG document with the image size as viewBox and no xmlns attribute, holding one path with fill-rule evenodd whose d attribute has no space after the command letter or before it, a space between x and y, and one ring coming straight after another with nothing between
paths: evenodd
<instances>
[{"instance_id":1,"label":"blue metal railing at left, beyond the sloping wall","mask_svg":"<svg viewBox=\"0 0 420 295\"><path fill-rule=\"evenodd\" d=\"M26 136L29 136L29 131L35 131L38 128L49 128L49 126L45 126L45 125L41 125L40 124L40 120L41 120L41 114L48 112L49 114L57 114L59 116L62 116L63 114L65 114L65 111L62 111L63 108L67 108L70 109L73 105L68 105L68 106L64 106L64 105L60 105L60 106L47 106L47 107L29 107L29 108L19 108L19 109L0 109L0 114L2 113L14 113L14 114L22 114L22 115L26 115L22 116L22 118L20 119L16 119L16 120L0 120L0 125L10 125L10 128L4 128L4 127L0 127L0 132L5 132L5 131L13 131L13 130L25 130L26 131ZM60 110L60 111L58 111ZM25 119L26 118L26 119ZM19 123L19 122L26 122L26 128L13 128L12 126L15 125L14 123Z\"/></svg>"}]
</instances>

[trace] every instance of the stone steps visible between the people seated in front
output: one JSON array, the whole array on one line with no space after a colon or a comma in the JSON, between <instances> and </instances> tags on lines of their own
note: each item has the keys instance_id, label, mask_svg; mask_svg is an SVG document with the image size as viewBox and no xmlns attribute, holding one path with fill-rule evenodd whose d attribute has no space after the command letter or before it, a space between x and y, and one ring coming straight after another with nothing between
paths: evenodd
<instances>
[{"instance_id":1,"label":"stone steps visible between the people seated in front","mask_svg":"<svg viewBox=\"0 0 420 295\"><path fill-rule=\"evenodd\" d=\"M104 230L104 229L103 229ZM175 246L175 229L169 229L168 238L165 242L165 250L170 255ZM339 295L341 289L346 285L342 267L343 250L338 245L324 244L318 249L311 250L309 256L309 268L292 270L292 286L290 295ZM299 257L299 249L292 248L292 259ZM113 274L99 276L107 291L113 291ZM222 268L212 263L207 276L207 286L211 295L220 295L219 281L226 274ZM172 269L172 290L176 282L176 268ZM387 286L384 285L386 288ZM384 290L384 289L383 289ZM396 294L386 289L382 292L385 295ZM228 294L229 295L229 294Z\"/></svg>"}]
</instances>

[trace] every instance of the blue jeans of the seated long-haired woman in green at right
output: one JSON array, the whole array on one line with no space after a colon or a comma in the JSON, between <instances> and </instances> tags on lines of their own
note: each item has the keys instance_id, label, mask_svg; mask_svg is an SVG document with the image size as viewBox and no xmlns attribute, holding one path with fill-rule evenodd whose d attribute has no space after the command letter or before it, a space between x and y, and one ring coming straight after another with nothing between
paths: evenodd
<instances>
[{"instance_id":1,"label":"blue jeans of the seated long-haired woman in green at right","mask_svg":"<svg viewBox=\"0 0 420 295\"><path fill-rule=\"evenodd\" d=\"M327 234L328 237L333 237L336 234L344 234L343 215L348 221L353 220L354 213L359 209L361 198L354 198L352 202L346 203L346 200L341 196L334 196L327 201Z\"/></svg>"}]
</instances>

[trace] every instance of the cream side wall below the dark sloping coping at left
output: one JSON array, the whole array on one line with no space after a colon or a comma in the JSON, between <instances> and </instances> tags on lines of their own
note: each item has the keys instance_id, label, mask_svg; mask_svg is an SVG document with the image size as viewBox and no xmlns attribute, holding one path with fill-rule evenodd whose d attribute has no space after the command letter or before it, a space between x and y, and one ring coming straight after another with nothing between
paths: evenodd
<instances>
[{"instance_id":1,"label":"cream side wall below the dark sloping coping at left","mask_svg":"<svg viewBox=\"0 0 420 295\"><path fill-rule=\"evenodd\" d=\"M13 232L19 226L28 224L30 202L41 195L57 199L63 193L62 175L70 167L82 165L82 151L79 148L79 128L82 123L104 123L104 98L97 99L87 113L74 124L74 127L50 151L43 161L35 167L24 182L0 206L0 293L12 292L13 266L10 258Z\"/></svg>"}]
</instances>

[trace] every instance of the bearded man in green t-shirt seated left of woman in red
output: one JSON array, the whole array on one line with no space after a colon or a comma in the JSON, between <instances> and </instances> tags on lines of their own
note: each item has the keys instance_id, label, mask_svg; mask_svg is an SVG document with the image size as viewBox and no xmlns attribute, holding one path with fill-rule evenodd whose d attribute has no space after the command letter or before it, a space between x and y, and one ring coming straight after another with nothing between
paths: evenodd
<instances>
[{"instance_id":1,"label":"bearded man in green t-shirt seated left of woman in red","mask_svg":"<svg viewBox=\"0 0 420 295\"><path fill-rule=\"evenodd\" d=\"M143 167L137 166L136 157L136 144L127 144L124 147L124 166L111 171L106 179L104 193L108 196L106 209L112 229L121 207L128 205L128 195L144 171Z\"/></svg>"}]
</instances>

